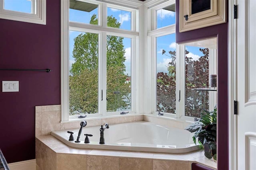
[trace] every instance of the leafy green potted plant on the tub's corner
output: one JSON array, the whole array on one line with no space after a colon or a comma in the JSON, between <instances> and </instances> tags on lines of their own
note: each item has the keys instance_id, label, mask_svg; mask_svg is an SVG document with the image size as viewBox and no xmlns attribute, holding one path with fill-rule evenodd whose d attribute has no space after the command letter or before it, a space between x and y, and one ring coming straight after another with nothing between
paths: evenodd
<instances>
[{"instance_id":1,"label":"leafy green potted plant on the tub's corner","mask_svg":"<svg viewBox=\"0 0 256 170\"><path fill-rule=\"evenodd\" d=\"M194 133L193 141L204 147L204 155L211 159L217 160L217 107L213 111L203 110L199 119L195 118L195 123L186 127L187 131Z\"/></svg>"}]
</instances>

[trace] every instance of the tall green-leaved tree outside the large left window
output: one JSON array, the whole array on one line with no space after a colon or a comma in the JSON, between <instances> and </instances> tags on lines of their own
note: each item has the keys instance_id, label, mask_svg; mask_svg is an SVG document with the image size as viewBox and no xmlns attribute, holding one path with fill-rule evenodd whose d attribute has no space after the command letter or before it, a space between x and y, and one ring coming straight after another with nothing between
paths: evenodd
<instances>
[{"instance_id":1,"label":"tall green-leaved tree outside the large left window","mask_svg":"<svg viewBox=\"0 0 256 170\"><path fill-rule=\"evenodd\" d=\"M93 15L90 24L96 25ZM107 17L109 27L120 28L113 16ZM130 86L125 84L126 66L123 37L107 36L107 109L130 106ZM72 57L75 62L70 69L70 114L98 112L98 34L81 33L74 39ZM120 92L118 95L114 92ZM101 91L100 91L101 93ZM118 101L118 105L116 104Z\"/></svg>"}]
</instances>

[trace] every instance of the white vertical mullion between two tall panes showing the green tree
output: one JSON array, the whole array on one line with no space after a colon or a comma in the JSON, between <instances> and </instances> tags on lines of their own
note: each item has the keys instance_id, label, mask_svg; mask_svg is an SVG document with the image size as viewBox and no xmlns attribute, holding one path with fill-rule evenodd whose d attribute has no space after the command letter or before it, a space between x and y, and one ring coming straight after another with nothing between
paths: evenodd
<instances>
[{"instance_id":1,"label":"white vertical mullion between two tall panes showing the green tree","mask_svg":"<svg viewBox=\"0 0 256 170\"><path fill-rule=\"evenodd\" d=\"M99 55L99 91L100 91L100 114L102 115L106 115L106 111L107 111L107 33L106 32L102 32L101 34L101 38L100 38L100 43L99 45L101 45L101 47L99 49L101 49L101 53ZM101 93L103 92L103 94Z\"/></svg>"}]
</instances>

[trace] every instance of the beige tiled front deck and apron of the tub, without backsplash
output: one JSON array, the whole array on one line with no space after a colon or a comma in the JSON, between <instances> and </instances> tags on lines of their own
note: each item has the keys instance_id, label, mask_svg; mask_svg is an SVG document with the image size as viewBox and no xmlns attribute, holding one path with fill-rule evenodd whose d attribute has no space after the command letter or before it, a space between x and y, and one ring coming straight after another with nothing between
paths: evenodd
<instances>
[{"instance_id":1,"label":"beige tiled front deck and apron of the tub, without backsplash","mask_svg":"<svg viewBox=\"0 0 256 170\"><path fill-rule=\"evenodd\" d=\"M36 170L191 170L195 162L216 170L204 151L184 154L68 147L51 135L36 137Z\"/></svg>"}]
</instances>

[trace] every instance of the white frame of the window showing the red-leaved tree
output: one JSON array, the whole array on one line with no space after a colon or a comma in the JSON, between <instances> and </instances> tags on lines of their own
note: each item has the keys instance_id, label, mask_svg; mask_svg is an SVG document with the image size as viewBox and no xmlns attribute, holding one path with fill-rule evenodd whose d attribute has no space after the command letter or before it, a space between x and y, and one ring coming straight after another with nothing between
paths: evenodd
<instances>
[{"instance_id":1,"label":"white frame of the window showing the red-leaved tree","mask_svg":"<svg viewBox=\"0 0 256 170\"><path fill-rule=\"evenodd\" d=\"M151 110L152 114L158 116L157 105L156 105L156 95L157 95L157 86L156 86L156 38L164 35L169 35L175 33L175 24L168 25L161 28L156 28L157 20L157 10L162 9L166 6L174 4L175 1L168 1L162 4L157 4L152 7L148 7L148 60L151 61L151 74L152 80L149 81L152 84L152 100L151 100ZM209 75L217 74L217 49L209 49ZM150 71L148 68L147 71ZM164 113L164 117L169 117L171 119L180 119L181 121L193 122L194 117L185 116L185 44L176 44L176 114L173 113ZM179 81L178 81L179 80ZM181 100L179 100L179 92ZM217 98L214 95L216 92L209 92L209 110L211 111L216 105ZM147 106L146 106L147 107ZM150 107L150 106L148 106Z\"/></svg>"}]
</instances>

